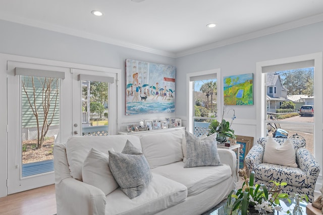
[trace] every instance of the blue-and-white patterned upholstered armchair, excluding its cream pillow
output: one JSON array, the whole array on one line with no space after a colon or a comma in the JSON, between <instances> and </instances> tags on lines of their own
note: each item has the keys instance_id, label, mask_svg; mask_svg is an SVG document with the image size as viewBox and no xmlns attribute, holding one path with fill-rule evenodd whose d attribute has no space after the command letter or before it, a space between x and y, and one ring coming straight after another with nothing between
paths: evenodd
<instances>
[{"instance_id":1,"label":"blue-and-white patterned upholstered armchair, excluding its cream pillow","mask_svg":"<svg viewBox=\"0 0 323 215\"><path fill-rule=\"evenodd\" d=\"M296 155L297 167L288 167L270 163L262 163L266 142L269 138L262 137L249 150L245 157L247 171L255 172L255 182L271 187L273 180L276 182L286 182L287 186L282 187L282 191L288 194L306 194L309 201L314 200L315 183L320 171L314 156L305 148L306 143L301 139L288 139L292 142ZM281 146L287 140L285 138L272 138Z\"/></svg>"}]
</instances>

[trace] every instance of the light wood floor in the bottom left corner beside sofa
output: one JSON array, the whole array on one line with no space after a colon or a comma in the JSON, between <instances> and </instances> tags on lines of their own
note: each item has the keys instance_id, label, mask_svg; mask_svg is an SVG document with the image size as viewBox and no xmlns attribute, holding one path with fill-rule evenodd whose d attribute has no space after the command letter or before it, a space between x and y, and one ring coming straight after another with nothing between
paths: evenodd
<instances>
[{"instance_id":1,"label":"light wood floor in the bottom left corner beside sofa","mask_svg":"<svg viewBox=\"0 0 323 215\"><path fill-rule=\"evenodd\" d=\"M2 215L53 215L56 212L55 185L0 198L0 214Z\"/></svg>"}]
</instances>

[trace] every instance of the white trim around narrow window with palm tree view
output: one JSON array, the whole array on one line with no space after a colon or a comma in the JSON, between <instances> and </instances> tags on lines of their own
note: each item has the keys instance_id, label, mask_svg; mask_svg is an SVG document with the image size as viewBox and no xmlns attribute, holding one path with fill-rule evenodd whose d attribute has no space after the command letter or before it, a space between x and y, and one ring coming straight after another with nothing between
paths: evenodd
<instances>
[{"instance_id":1,"label":"white trim around narrow window with palm tree view","mask_svg":"<svg viewBox=\"0 0 323 215\"><path fill-rule=\"evenodd\" d=\"M188 105L187 105L187 128L188 131L193 133L194 130L194 121L193 121L193 113L194 113L194 105L193 105L193 82L190 80L193 80L192 77L195 76L202 76L202 75L209 75L209 74L217 74L217 87L218 87L218 93L217 93L217 100L218 100L218 113L222 113L223 105L221 98L223 97L223 89L222 89L222 76L221 76L221 69L212 69L212 70L205 70L205 71L199 71L199 72L193 72L193 73L187 73L186 74L186 92L187 92L187 98L188 98ZM220 104L220 105L219 105Z\"/></svg>"}]
</instances>

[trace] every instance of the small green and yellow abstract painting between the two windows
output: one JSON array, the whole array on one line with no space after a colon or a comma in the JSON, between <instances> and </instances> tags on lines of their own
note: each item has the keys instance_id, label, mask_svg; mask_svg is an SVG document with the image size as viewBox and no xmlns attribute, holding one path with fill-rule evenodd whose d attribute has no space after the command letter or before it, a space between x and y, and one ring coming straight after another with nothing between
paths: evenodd
<instances>
[{"instance_id":1,"label":"small green and yellow abstract painting between the two windows","mask_svg":"<svg viewBox=\"0 0 323 215\"><path fill-rule=\"evenodd\" d=\"M227 76L224 82L224 103L253 105L253 73Z\"/></svg>"}]
</instances>

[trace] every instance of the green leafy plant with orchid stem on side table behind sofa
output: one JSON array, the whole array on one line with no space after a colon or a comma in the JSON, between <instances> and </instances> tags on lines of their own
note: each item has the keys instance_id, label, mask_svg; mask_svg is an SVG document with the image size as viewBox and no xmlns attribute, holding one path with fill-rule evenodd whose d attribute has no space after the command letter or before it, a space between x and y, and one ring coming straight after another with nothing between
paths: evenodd
<instances>
[{"instance_id":1,"label":"green leafy plant with orchid stem on side table behind sofa","mask_svg":"<svg viewBox=\"0 0 323 215\"><path fill-rule=\"evenodd\" d=\"M223 119L225 112L229 113L229 111L233 111L233 116L231 123ZM228 109L226 111L226 107L223 109L222 120L219 122L218 120L213 120L208 126L208 136L214 133L217 133L217 141L218 142L226 142L228 138L236 139L236 135L234 134L234 130L231 129L231 124L233 120L236 118L234 109Z\"/></svg>"}]
</instances>

